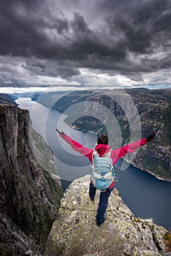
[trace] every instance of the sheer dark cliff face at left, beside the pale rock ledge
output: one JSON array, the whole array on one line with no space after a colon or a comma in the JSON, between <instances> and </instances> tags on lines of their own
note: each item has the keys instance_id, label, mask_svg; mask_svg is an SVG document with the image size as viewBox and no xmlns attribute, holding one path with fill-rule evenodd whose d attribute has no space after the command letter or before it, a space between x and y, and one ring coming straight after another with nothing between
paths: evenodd
<instances>
[{"instance_id":1,"label":"sheer dark cliff face at left, beside the pale rock ledge","mask_svg":"<svg viewBox=\"0 0 171 256\"><path fill-rule=\"evenodd\" d=\"M27 110L0 105L0 255L42 249L58 216L61 181L35 158L29 123Z\"/></svg>"}]
</instances>

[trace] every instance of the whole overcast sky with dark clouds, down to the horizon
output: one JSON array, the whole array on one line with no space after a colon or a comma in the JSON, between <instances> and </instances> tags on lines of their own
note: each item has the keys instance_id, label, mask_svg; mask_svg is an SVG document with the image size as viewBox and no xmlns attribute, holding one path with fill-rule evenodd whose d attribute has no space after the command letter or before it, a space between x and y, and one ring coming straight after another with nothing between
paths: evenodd
<instances>
[{"instance_id":1,"label":"whole overcast sky with dark clouds, down to the horizon","mask_svg":"<svg viewBox=\"0 0 171 256\"><path fill-rule=\"evenodd\" d=\"M171 88L170 20L171 0L0 0L0 91Z\"/></svg>"}]
</instances>

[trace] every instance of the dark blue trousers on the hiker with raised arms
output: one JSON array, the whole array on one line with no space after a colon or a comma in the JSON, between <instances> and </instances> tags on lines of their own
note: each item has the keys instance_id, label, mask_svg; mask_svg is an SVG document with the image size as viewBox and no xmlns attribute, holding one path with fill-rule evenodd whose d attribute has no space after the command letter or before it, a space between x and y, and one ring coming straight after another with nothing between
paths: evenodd
<instances>
[{"instance_id":1,"label":"dark blue trousers on the hiker with raised arms","mask_svg":"<svg viewBox=\"0 0 171 256\"><path fill-rule=\"evenodd\" d=\"M105 189L104 192L103 191L100 192L99 207L96 213L97 226L101 225L104 222L104 214L106 212L108 199L112 191L113 191L113 187L111 189ZM96 187L94 187L93 184L90 184L89 196L91 197L91 200L94 200L95 195L96 195Z\"/></svg>"}]
</instances>

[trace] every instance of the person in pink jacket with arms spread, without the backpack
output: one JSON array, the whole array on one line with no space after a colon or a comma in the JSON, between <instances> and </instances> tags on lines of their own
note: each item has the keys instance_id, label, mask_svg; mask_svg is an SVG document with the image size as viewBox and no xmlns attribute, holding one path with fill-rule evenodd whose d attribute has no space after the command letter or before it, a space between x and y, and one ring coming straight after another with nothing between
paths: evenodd
<instances>
[{"instance_id":1,"label":"person in pink jacket with arms spread, without the backpack","mask_svg":"<svg viewBox=\"0 0 171 256\"><path fill-rule=\"evenodd\" d=\"M72 140L68 135L66 135L64 132L60 132L58 129L56 129L59 136L63 138L66 143L68 143L72 148L82 154L83 156L87 157L91 164L93 164L94 161L94 149L86 148L85 146L81 145L75 140ZM95 151L99 155L99 157L104 157L105 154L110 152L110 158L113 161L113 165L117 162L117 160L123 156L125 156L128 153L132 153L136 151L141 146L144 146L151 140L153 140L154 136L156 135L156 132L153 132L153 135L148 136L148 138L142 138L141 140L137 140L134 143L130 143L126 146L122 146L118 149L112 149L110 146L108 146L108 137L104 133L99 135L97 139L97 145L95 148ZM92 178L92 177L91 177ZM99 227L102 225L104 220L106 219L106 209L107 209L107 203L108 199L110 197L110 194L113 190L115 181L113 180L107 189L102 189L100 192L99 197L99 207L96 213L96 225ZM96 195L96 187L94 186L94 183L91 179L90 187L89 187L89 196L91 197L91 200L94 200L94 197Z\"/></svg>"}]
</instances>

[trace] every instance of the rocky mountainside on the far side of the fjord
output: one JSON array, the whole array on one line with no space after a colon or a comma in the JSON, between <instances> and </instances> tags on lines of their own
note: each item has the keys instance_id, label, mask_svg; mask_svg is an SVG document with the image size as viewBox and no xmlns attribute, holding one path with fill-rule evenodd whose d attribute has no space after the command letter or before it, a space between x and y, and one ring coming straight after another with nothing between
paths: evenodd
<instances>
[{"instance_id":1,"label":"rocky mountainside on the far side of the fjord","mask_svg":"<svg viewBox=\"0 0 171 256\"><path fill-rule=\"evenodd\" d=\"M107 132L113 148L158 130L155 140L140 148L136 157L127 155L126 161L171 181L170 96L170 89L73 91L58 99L53 109L64 112L72 127Z\"/></svg>"}]
</instances>

